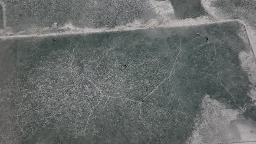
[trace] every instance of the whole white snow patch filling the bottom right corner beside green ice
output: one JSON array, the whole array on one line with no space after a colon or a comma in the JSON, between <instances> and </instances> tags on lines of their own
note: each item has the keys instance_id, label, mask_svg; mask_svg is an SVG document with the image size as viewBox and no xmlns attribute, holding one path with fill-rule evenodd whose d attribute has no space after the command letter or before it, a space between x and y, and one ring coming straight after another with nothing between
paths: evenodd
<instances>
[{"instance_id":1,"label":"whole white snow patch filling the bottom right corner beside green ice","mask_svg":"<svg viewBox=\"0 0 256 144\"><path fill-rule=\"evenodd\" d=\"M256 141L256 124L241 116L242 113L238 109L226 108L206 95L201 104L202 115L197 118L192 136L186 144L252 144L252 141Z\"/></svg>"}]
</instances>

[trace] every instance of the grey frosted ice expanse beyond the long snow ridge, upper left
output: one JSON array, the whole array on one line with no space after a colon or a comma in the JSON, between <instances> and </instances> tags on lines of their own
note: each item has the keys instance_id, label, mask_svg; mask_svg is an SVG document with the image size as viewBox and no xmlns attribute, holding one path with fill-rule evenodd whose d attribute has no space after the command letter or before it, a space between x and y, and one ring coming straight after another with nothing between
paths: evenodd
<instances>
[{"instance_id":1,"label":"grey frosted ice expanse beyond the long snow ridge, upper left","mask_svg":"<svg viewBox=\"0 0 256 144\"><path fill-rule=\"evenodd\" d=\"M153 16L148 0L3 0L7 26L14 31L31 27L115 27Z\"/></svg>"}]
</instances>

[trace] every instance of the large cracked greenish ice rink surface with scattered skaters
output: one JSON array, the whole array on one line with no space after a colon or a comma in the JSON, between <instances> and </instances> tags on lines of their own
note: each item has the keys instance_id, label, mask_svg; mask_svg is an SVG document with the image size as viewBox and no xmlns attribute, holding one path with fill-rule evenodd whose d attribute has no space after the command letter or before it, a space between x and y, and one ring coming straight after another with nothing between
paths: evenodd
<instances>
[{"instance_id":1,"label":"large cracked greenish ice rink surface with scattered skaters","mask_svg":"<svg viewBox=\"0 0 256 144\"><path fill-rule=\"evenodd\" d=\"M205 95L233 109L252 103L238 57L252 50L240 29L229 22L0 40L0 141L182 144Z\"/></svg>"}]
</instances>

